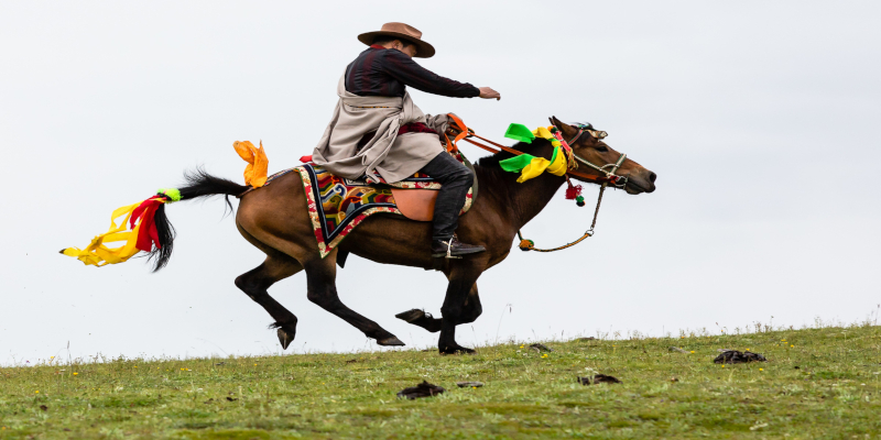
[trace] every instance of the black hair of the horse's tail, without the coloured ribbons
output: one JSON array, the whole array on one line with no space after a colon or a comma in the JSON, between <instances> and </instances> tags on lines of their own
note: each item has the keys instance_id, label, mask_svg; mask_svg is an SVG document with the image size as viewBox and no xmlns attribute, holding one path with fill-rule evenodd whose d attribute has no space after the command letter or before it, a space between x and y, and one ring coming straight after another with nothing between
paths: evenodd
<instances>
[{"instance_id":1,"label":"black hair of the horse's tail, without the coloured ribbons","mask_svg":"<svg viewBox=\"0 0 881 440\"><path fill-rule=\"evenodd\" d=\"M230 211L232 204L229 201L229 196L239 196L247 191L249 186L239 185L232 180L225 179L208 174L203 168L196 168L184 173L184 180L186 184L177 188L180 191L180 200L193 200L199 197L225 196L227 206ZM168 258L172 256L174 249L175 231L168 216L165 215L165 204L156 208L153 221L156 226L157 245L148 253L148 261L153 262L153 272L165 267L168 264Z\"/></svg>"}]
</instances>

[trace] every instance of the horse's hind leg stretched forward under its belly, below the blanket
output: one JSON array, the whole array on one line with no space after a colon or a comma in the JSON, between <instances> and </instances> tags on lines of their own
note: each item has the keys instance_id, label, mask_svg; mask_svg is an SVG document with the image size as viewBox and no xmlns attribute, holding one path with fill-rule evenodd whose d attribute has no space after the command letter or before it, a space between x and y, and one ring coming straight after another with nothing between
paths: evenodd
<instances>
[{"instance_id":1,"label":"horse's hind leg stretched forward under its belly, below the blanket","mask_svg":"<svg viewBox=\"0 0 881 440\"><path fill-rule=\"evenodd\" d=\"M346 322L361 330L368 338L376 339L380 345L404 344L394 334L348 308L339 299L336 287L336 250L325 258L312 258L305 262L303 266L306 268L306 283L311 301L342 318Z\"/></svg>"}]
</instances>

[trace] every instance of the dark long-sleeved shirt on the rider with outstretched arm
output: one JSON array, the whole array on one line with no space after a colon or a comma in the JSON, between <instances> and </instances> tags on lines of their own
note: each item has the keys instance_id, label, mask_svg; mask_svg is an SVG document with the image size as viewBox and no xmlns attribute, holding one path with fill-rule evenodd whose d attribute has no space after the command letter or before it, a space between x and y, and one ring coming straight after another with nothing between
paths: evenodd
<instances>
[{"instance_id":1,"label":"dark long-sleeved shirt on the rider with outstretched arm","mask_svg":"<svg viewBox=\"0 0 881 440\"><path fill-rule=\"evenodd\" d=\"M450 98L474 98L480 90L420 66L401 51L372 45L346 68L346 90L358 96L403 97L406 86Z\"/></svg>"}]
</instances>

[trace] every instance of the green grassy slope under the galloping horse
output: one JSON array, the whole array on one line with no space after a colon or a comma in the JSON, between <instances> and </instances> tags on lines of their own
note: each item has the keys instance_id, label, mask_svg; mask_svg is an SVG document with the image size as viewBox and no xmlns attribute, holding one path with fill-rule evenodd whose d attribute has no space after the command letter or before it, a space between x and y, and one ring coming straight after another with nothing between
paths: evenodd
<instances>
[{"instance_id":1,"label":"green grassy slope under the galloping horse","mask_svg":"<svg viewBox=\"0 0 881 440\"><path fill-rule=\"evenodd\" d=\"M880 327L546 344L0 369L0 438L881 438ZM423 378L447 393L395 397Z\"/></svg>"}]
</instances>

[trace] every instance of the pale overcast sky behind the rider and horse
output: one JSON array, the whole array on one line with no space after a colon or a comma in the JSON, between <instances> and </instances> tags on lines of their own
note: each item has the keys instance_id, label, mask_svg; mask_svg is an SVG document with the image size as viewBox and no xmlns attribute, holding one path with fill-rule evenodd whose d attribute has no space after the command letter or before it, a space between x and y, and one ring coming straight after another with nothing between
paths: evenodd
<instances>
[{"instance_id":1,"label":"pale overcast sky behind the rider and horse","mask_svg":"<svg viewBox=\"0 0 881 440\"><path fill-rule=\"evenodd\" d=\"M511 122L589 121L659 175L654 194L607 195L587 242L514 250L487 272L483 316L459 327L460 343L863 320L881 302L879 12L870 1L3 1L0 363L66 356L68 341L74 356L278 353L271 318L232 284L263 255L219 200L168 208L178 239L157 274L57 252L186 168L242 180L233 141L262 139L271 173L296 165L365 48L356 36L389 21L437 48L426 68L502 95L411 89L425 112L455 111L498 141ZM591 211L561 190L523 232L559 245ZM410 346L436 344L394 314L439 315L439 273L350 257L337 286ZM270 294L300 318L289 353L376 348L306 299L303 273Z\"/></svg>"}]
</instances>

